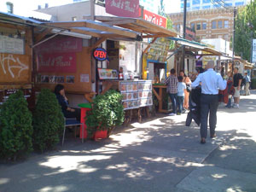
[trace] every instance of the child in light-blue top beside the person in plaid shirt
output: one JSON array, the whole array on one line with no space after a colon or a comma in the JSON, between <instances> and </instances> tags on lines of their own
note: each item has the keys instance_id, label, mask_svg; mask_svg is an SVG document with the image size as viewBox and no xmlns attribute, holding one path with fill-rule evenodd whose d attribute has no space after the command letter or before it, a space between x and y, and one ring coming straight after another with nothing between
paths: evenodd
<instances>
[{"instance_id":1,"label":"child in light-blue top beside the person in plaid shirt","mask_svg":"<svg viewBox=\"0 0 256 192\"><path fill-rule=\"evenodd\" d=\"M184 91L186 90L186 84L183 82L183 77L177 77L177 114L183 113L183 101L184 101Z\"/></svg>"}]
</instances>

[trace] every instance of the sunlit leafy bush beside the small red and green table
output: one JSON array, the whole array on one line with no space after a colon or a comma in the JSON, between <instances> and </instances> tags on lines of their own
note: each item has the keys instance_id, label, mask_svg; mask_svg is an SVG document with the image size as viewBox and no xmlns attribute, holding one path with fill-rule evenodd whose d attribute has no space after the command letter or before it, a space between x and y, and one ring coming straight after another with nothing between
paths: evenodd
<instances>
[{"instance_id":1,"label":"sunlit leafy bush beside the small red and green table","mask_svg":"<svg viewBox=\"0 0 256 192\"><path fill-rule=\"evenodd\" d=\"M87 113L88 137L92 137L98 130L108 130L108 135L116 125L122 125L125 112L122 105L122 96L116 90L108 90L104 95L95 97L92 110Z\"/></svg>"}]
</instances>

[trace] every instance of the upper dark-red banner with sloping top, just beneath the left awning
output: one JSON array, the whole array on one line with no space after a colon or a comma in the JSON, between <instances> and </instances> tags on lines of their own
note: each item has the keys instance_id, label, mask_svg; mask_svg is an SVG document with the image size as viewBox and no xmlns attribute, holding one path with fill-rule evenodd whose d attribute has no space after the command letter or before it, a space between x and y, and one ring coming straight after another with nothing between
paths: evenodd
<instances>
[{"instance_id":1,"label":"upper dark-red banner with sloping top, just beneath the left awning","mask_svg":"<svg viewBox=\"0 0 256 192\"><path fill-rule=\"evenodd\" d=\"M65 52L80 52L83 48L83 39L67 36L59 36L50 39L36 47L36 52L42 53L65 53Z\"/></svg>"}]
</instances>

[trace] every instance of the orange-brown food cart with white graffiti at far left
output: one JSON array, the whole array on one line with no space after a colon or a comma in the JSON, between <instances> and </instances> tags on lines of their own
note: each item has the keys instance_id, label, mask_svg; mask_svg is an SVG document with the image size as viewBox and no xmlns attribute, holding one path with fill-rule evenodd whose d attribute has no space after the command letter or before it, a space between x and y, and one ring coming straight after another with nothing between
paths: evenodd
<instances>
[{"instance_id":1,"label":"orange-brown food cart with white graffiti at far left","mask_svg":"<svg viewBox=\"0 0 256 192\"><path fill-rule=\"evenodd\" d=\"M0 13L0 105L22 89L33 108L32 27L37 20Z\"/></svg>"}]
</instances>

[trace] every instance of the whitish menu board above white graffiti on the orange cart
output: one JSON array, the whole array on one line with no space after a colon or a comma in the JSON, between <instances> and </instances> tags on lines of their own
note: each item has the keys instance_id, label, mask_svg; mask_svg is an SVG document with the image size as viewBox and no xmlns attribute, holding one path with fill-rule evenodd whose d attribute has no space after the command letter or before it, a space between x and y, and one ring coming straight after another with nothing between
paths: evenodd
<instances>
[{"instance_id":1,"label":"whitish menu board above white graffiti on the orange cart","mask_svg":"<svg viewBox=\"0 0 256 192\"><path fill-rule=\"evenodd\" d=\"M24 40L0 35L0 53L24 55Z\"/></svg>"}]
</instances>

